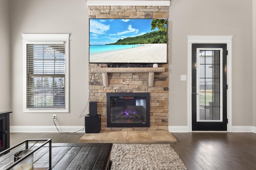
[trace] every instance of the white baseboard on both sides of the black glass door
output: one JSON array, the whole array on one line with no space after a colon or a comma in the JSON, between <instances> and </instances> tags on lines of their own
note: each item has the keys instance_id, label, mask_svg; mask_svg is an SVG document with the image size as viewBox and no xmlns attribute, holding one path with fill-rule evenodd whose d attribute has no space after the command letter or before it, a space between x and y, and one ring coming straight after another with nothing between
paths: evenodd
<instances>
[{"instance_id":1,"label":"white baseboard on both sides of the black glass door","mask_svg":"<svg viewBox=\"0 0 256 170\"><path fill-rule=\"evenodd\" d=\"M188 126L169 126L168 127L169 132L171 133L188 133L190 132L188 129ZM252 132L256 133L256 127L255 126L232 126L231 132Z\"/></svg>"}]
</instances>

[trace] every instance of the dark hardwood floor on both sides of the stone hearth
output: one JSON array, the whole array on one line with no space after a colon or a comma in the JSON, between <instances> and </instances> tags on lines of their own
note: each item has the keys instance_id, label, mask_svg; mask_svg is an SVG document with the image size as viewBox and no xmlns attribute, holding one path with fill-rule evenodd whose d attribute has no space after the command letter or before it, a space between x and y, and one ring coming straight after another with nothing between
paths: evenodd
<instances>
[{"instance_id":1,"label":"dark hardwood floor on both sides of the stone hearth","mask_svg":"<svg viewBox=\"0 0 256 170\"><path fill-rule=\"evenodd\" d=\"M52 143L78 143L79 135L10 133L10 146L26 139L52 139ZM172 133L169 143L188 170L256 170L256 133Z\"/></svg>"}]
</instances>

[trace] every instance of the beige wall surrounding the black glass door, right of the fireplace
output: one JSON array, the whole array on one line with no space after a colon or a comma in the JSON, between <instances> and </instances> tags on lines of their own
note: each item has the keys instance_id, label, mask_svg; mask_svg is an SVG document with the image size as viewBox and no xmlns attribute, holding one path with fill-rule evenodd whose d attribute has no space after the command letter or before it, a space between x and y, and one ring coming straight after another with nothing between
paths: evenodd
<instances>
[{"instance_id":1,"label":"beige wall surrounding the black glass door, right of the fireplace","mask_svg":"<svg viewBox=\"0 0 256 170\"><path fill-rule=\"evenodd\" d=\"M169 125L187 125L187 35L233 35L232 125L252 126L252 1L172 0L169 21Z\"/></svg>"}]
</instances>

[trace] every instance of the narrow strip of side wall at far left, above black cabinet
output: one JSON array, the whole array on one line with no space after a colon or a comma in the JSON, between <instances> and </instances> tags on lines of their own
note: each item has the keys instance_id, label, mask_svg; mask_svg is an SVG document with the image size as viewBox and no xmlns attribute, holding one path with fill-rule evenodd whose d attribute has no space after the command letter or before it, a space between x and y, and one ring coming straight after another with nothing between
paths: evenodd
<instances>
[{"instance_id":1,"label":"narrow strip of side wall at far left, above black cabinet","mask_svg":"<svg viewBox=\"0 0 256 170\"><path fill-rule=\"evenodd\" d=\"M0 0L0 111L11 109L9 7L8 0Z\"/></svg>"}]
</instances>

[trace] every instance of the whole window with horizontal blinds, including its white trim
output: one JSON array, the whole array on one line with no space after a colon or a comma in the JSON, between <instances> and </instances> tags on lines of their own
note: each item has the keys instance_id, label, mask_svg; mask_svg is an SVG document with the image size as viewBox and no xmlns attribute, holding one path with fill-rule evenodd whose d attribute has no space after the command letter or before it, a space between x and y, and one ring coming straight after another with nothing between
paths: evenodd
<instances>
[{"instance_id":1,"label":"whole window with horizontal blinds, including its white trim","mask_svg":"<svg viewBox=\"0 0 256 170\"><path fill-rule=\"evenodd\" d=\"M68 112L68 41L64 40L69 35L22 36L26 65L24 111Z\"/></svg>"}]
</instances>

